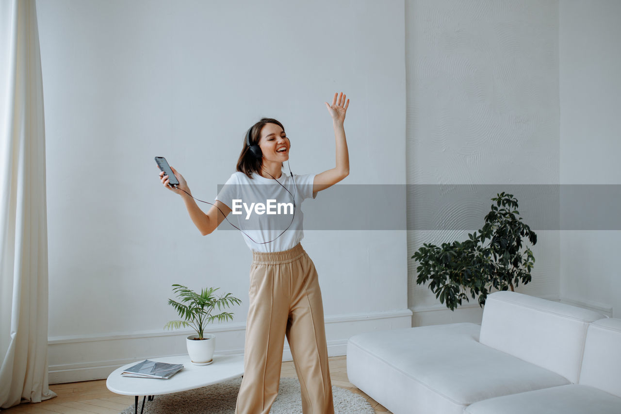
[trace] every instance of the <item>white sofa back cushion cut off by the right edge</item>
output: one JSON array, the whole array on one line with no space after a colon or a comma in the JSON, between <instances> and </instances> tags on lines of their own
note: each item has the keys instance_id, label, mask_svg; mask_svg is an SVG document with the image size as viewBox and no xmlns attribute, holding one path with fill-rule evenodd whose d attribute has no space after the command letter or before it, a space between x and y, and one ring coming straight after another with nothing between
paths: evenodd
<instances>
[{"instance_id":1,"label":"white sofa back cushion cut off by the right edge","mask_svg":"<svg viewBox=\"0 0 621 414\"><path fill-rule=\"evenodd\" d=\"M621 319L601 319L589 326L579 384L621 397Z\"/></svg>"}]
</instances>

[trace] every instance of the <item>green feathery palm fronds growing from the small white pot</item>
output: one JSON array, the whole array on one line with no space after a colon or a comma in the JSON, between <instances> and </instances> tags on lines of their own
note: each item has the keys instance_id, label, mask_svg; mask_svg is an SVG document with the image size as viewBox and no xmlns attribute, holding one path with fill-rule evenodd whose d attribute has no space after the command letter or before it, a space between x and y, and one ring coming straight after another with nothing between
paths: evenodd
<instances>
[{"instance_id":1,"label":"green feathery palm fronds growing from the small white pot","mask_svg":"<svg viewBox=\"0 0 621 414\"><path fill-rule=\"evenodd\" d=\"M220 310L221 308L228 308L232 305L241 305L242 301L238 298L232 297L231 293L227 293L224 296L216 298L214 292L219 288L207 288L202 289L201 294L194 292L188 287L183 285L173 285L175 287L173 292L177 294L177 297L184 303L189 302L188 305L179 303L178 301L168 299L168 305L173 306L179 316L183 318L183 321L170 321L165 324L164 329L179 329L181 326L185 328L193 328L198 333L197 340L203 338L204 329L207 323L218 320L219 322L233 320L233 314L230 312L222 312L219 315L211 315L215 306Z\"/></svg>"}]
</instances>

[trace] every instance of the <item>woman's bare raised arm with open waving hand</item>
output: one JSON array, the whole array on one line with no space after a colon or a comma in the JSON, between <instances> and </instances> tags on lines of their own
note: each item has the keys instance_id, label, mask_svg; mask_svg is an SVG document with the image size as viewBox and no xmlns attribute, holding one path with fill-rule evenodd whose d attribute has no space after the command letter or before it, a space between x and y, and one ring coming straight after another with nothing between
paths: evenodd
<instances>
[{"instance_id":1,"label":"woman's bare raised arm with open waving hand","mask_svg":"<svg viewBox=\"0 0 621 414\"><path fill-rule=\"evenodd\" d=\"M347 151L347 141L345 140L345 127L343 127L345 113L349 106L349 99L347 99L347 103L345 103L345 98L345 94L341 93L339 95L335 93L334 99L332 99L332 106L325 102L325 106L328 108L330 116L332 116L334 138L337 144L337 166L315 175L312 186L313 193L325 190L349 175L349 153Z\"/></svg>"}]
</instances>

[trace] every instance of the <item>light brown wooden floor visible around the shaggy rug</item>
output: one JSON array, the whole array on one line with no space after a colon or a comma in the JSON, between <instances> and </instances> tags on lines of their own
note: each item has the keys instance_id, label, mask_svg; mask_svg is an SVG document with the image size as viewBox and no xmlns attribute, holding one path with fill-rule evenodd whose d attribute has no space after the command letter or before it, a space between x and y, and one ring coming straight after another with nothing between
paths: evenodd
<instances>
[{"instance_id":1,"label":"light brown wooden floor visible around the shaggy rug","mask_svg":"<svg viewBox=\"0 0 621 414\"><path fill-rule=\"evenodd\" d=\"M351 390L358 393L371 403L376 413L390 413L386 408L379 405L373 398L369 397L347 380L347 364L345 356L330 357L330 379L332 385ZM297 378L296 369L293 362L283 362L281 377ZM99 413L112 414L119 413L130 405L134 404L134 397L130 395L118 395L106 388L106 380L71 382L69 384L53 384L50 389L58 394L40 403L23 403L15 407L1 410L2 413L37 413L37 414L82 414ZM142 404L142 400L140 402Z\"/></svg>"}]
</instances>

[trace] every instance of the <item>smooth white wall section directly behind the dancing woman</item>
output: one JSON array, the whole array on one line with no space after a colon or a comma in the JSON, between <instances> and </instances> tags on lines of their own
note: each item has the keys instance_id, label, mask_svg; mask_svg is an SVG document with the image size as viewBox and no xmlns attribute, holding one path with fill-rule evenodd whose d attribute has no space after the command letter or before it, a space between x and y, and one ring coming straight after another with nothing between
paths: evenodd
<instances>
[{"instance_id":1,"label":"smooth white wall section directly behind the dancing woman","mask_svg":"<svg viewBox=\"0 0 621 414\"><path fill-rule=\"evenodd\" d=\"M345 91L347 183L405 182L402 0L57 0L37 12L52 383L183 354L183 334L162 329L176 319L173 283L241 298L235 320L213 330L217 352L243 351L252 256L235 232L200 236L158 181L156 155L212 201L247 128L270 116L291 137L292 170L321 172L334 162L324 101ZM303 244L330 354L353 333L409 326L404 231L308 231Z\"/></svg>"}]
</instances>

